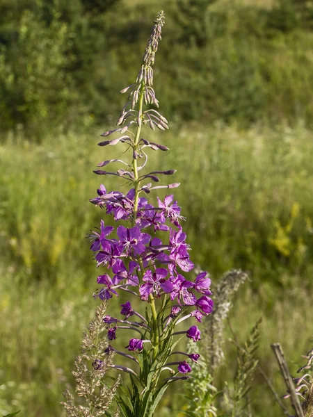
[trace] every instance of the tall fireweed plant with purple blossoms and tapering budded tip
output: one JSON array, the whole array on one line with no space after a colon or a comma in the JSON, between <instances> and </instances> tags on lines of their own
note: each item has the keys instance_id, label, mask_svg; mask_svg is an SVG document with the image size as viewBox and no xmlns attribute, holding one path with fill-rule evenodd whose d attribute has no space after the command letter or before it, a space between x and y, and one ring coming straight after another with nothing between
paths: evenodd
<instances>
[{"instance_id":1,"label":"tall fireweed plant with purple blossoms and tapering budded tip","mask_svg":"<svg viewBox=\"0 0 313 417\"><path fill-rule=\"evenodd\" d=\"M198 361L200 354L177 351L175 347L182 338L200 341L198 323L213 309L209 297L211 280L207 272L201 272L195 281L189 281L183 275L193 270L194 265L189 259L186 233L182 230L181 208L172 194L163 200L157 197L155 204L146 198L157 190L172 190L179 186L179 183L152 186L152 183L159 183L160 175L170 176L175 170L145 171L150 149L169 150L142 137L143 126L152 130L155 127L161 131L168 129L166 118L153 108L159 108L153 89L152 67L163 24L161 11L154 22L136 81L121 91L128 92L128 99L118 119L118 127L102 133L105 138L116 133L119 136L99 143L101 147L122 143L131 149L131 163L111 159L97 165L119 163L125 168L116 172L95 171L95 174L127 179L129 192L125 195L120 191L108 191L101 184L97 197L90 199L96 206L105 207L106 213L113 215L116 222L122 220L127 226L120 224L115 230L102 220L99 231L88 235L97 267L106 267L108 272L97 277L102 288L94 296L106 301L124 291L145 306L145 313L140 313L132 308L129 300L121 305L120 318L103 318L111 343L106 354L115 352L115 360L120 354L134 363L131 368L111 365L111 368L130 375L131 389L122 389L126 395L116 396L122 416L127 417L153 416L168 386L190 378L192 363ZM113 238L113 231L116 238ZM155 236L157 231L162 238ZM177 329L177 325L188 318L193 318L195 324L188 329ZM125 352L118 352L114 340L124 337L125 330L134 332L134 337L125 343ZM102 361L95 361L93 366L101 368ZM106 412L106 415L109 414Z\"/></svg>"}]
</instances>

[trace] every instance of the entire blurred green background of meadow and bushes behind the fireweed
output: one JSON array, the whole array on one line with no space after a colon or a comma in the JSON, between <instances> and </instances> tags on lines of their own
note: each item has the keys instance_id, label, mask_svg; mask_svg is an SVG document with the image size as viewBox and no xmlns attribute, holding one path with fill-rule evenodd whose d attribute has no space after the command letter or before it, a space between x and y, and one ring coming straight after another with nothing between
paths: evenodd
<instances>
[{"instance_id":1,"label":"entire blurred green background of meadow and bushes behind the fireweed","mask_svg":"<svg viewBox=\"0 0 313 417\"><path fill-rule=\"evenodd\" d=\"M312 347L312 2L1 0L0 415L65 415L97 305L84 239L104 215L88 202L92 171L120 151L97 142L161 7L155 89L170 131L148 134L170 152L151 166L177 169L191 259L213 281L248 272L230 321L244 342L262 316L259 363L280 394L270 343L282 343L293 373ZM235 372L232 343L225 356L217 386ZM257 371L253 386L252 415L281 415ZM183 416L172 394L160 412Z\"/></svg>"}]
</instances>

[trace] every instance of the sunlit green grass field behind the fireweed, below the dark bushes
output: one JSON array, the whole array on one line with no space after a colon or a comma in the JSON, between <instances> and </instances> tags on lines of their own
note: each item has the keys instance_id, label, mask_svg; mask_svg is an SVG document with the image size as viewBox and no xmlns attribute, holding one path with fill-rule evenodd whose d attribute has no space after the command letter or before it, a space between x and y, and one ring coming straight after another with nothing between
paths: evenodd
<instances>
[{"instance_id":1,"label":"sunlit green grass field behind the fireweed, below the dark bushes","mask_svg":"<svg viewBox=\"0 0 313 417\"><path fill-rule=\"evenodd\" d=\"M84 236L105 213L88 199L100 180L123 189L92 172L122 151L97 147L99 133L47 136L42 145L22 134L3 138L0 415L22 409L21 416L64 416L62 392L73 382L81 332L97 304L97 270ZM150 167L177 169L182 185L175 197L191 259L214 281L230 268L249 272L252 282L241 289L230 320L243 342L264 318L260 363L284 393L269 345L282 343L294 372L312 336L312 132L300 124L248 131L216 124L149 134L170 147L166 155L152 154ZM110 314L117 311L113 301ZM225 353L217 384L234 373L231 343ZM257 373L251 396L253 415L280 415ZM164 399L164 415L183 415L182 399L174 398Z\"/></svg>"}]
</instances>

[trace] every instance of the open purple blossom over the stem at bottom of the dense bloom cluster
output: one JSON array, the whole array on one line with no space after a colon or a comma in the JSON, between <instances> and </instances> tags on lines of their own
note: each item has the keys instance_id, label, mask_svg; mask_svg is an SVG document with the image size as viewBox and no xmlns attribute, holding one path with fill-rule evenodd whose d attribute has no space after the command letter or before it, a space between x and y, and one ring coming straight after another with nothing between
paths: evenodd
<instances>
[{"instance_id":1,"label":"open purple blossom over the stem at bottom of the dense bloom cluster","mask_svg":"<svg viewBox=\"0 0 313 417\"><path fill-rule=\"evenodd\" d=\"M172 291L172 282L165 279L168 275L168 270L165 268L157 268L152 273L151 270L147 270L143 276L143 281L146 284L141 285L139 293L141 294L141 300L147 301L151 293L154 293L157 297L160 297L161 290L164 293L170 293Z\"/></svg>"}]
</instances>

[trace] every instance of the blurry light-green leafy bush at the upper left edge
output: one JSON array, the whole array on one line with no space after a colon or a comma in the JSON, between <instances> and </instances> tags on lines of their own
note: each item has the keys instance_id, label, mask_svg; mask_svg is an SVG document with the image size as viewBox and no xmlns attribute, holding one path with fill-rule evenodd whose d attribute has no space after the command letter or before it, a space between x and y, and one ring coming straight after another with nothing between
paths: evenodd
<instances>
[{"instance_id":1,"label":"blurry light-green leafy bush at the upper left edge","mask_svg":"<svg viewBox=\"0 0 313 417\"><path fill-rule=\"evenodd\" d=\"M74 83L65 71L72 59L70 30L56 14L50 26L25 10L13 44L0 50L0 124L27 126L33 135L63 126L77 111ZM41 132L42 133L42 132Z\"/></svg>"}]
</instances>

